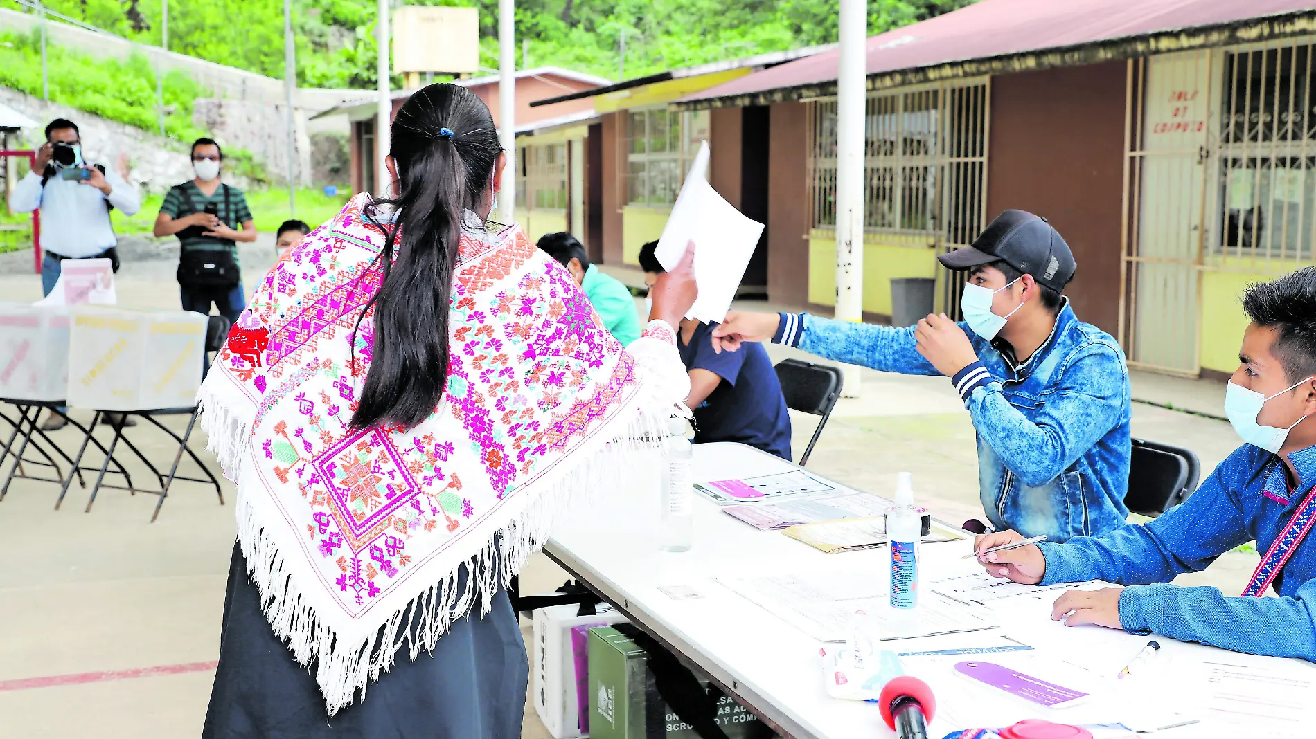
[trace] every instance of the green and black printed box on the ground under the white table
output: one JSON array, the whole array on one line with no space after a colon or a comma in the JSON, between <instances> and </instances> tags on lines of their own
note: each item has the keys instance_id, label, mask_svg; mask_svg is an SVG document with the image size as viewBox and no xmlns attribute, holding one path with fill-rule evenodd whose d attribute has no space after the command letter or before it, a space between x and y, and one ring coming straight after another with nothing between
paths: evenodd
<instances>
[{"instance_id":1,"label":"green and black printed box on the ground under the white table","mask_svg":"<svg viewBox=\"0 0 1316 739\"><path fill-rule=\"evenodd\" d=\"M629 625L590 630L591 739L700 739L662 698L649 669L649 651ZM651 642L646 642L651 643ZM657 647L654 647L657 648ZM728 739L766 739L772 731L730 696L699 681L712 706L708 718Z\"/></svg>"}]
</instances>

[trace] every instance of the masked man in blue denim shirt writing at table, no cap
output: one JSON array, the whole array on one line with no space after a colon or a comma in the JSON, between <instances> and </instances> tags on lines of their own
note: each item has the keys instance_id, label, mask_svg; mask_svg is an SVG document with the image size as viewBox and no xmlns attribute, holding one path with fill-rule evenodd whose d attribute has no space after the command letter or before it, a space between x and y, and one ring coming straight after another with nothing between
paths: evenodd
<instances>
[{"instance_id":1,"label":"masked man in blue denim shirt writing at table, no cap","mask_svg":"<svg viewBox=\"0 0 1316 739\"><path fill-rule=\"evenodd\" d=\"M1244 295L1252 318L1225 394L1225 412L1248 443L1180 505L1146 525L1103 536L1042 543L979 556L991 575L1016 583L1107 580L1128 588L1071 590L1051 618L1157 632L1255 655L1316 661L1316 267ZM1017 540L979 536L976 551ZM1205 569L1249 540L1262 552L1245 597L1169 583ZM1262 596L1269 586L1278 598Z\"/></svg>"}]
</instances>

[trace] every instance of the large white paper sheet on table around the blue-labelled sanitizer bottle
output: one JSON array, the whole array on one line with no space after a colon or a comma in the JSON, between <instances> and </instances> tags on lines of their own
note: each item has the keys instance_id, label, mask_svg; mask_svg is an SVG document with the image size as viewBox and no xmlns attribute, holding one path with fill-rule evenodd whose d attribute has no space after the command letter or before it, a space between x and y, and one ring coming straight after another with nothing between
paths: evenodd
<instances>
[{"instance_id":1,"label":"large white paper sheet on table around the blue-labelled sanitizer bottle","mask_svg":"<svg viewBox=\"0 0 1316 739\"><path fill-rule=\"evenodd\" d=\"M886 583L873 572L807 572L719 576L719 583L821 642L845 642L857 613L878 613L882 640L995 629L988 617L923 598L913 610L886 602Z\"/></svg>"}]
</instances>

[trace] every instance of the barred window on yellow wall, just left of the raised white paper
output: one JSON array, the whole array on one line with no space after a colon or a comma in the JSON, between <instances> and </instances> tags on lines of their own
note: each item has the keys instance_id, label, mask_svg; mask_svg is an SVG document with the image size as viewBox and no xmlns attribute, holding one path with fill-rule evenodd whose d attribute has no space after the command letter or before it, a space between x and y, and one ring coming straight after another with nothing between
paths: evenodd
<instances>
[{"instance_id":1,"label":"barred window on yellow wall, just left of the raised white paper","mask_svg":"<svg viewBox=\"0 0 1316 739\"><path fill-rule=\"evenodd\" d=\"M626 201L659 206L676 203L686 171L707 138L708 110L632 110L626 116Z\"/></svg>"}]
</instances>

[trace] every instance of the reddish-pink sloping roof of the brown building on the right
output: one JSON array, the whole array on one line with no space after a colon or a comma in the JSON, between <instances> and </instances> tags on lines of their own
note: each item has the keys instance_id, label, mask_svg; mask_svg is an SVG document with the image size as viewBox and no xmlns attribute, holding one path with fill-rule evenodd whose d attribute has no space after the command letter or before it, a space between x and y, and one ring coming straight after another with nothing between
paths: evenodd
<instances>
[{"instance_id":1,"label":"reddish-pink sloping roof of the brown building on the right","mask_svg":"<svg viewBox=\"0 0 1316 739\"><path fill-rule=\"evenodd\" d=\"M870 37L869 85L894 87L925 79L1120 58L1111 54L1109 46L1117 46L1121 39L1130 42L1124 49L1126 58L1295 36L1316 30L1313 21L1316 3L1312 0L980 0L953 13ZM1234 28L1240 25L1248 28ZM1220 29L1215 37L1183 37L1183 32L1212 28ZM1171 36L1155 38L1161 34ZM1084 50L1090 54L1082 53ZM1049 59L1034 58L1044 51L1057 54ZM832 50L762 70L690 95L676 105L746 105L830 93L838 55L838 50ZM995 63L974 63L987 60ZM874 76L887 79L875 85Z\"/></svg>"}]
</instances>

